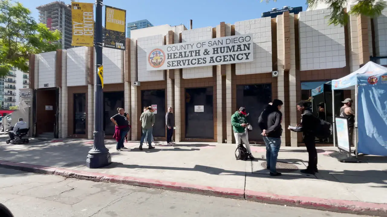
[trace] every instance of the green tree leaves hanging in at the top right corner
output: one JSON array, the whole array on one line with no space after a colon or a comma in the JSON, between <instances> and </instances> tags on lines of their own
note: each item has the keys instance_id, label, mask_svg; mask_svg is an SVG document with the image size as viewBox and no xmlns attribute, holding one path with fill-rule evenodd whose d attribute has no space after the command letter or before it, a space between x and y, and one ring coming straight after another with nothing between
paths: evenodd
<instances>
[{"instance_id":1,"label":"green tree leaves hanging in at the top right corner","mask_svg":"<svg viewBox=\"0 0 387 217\"><path fill-rule=\"evenodd\" d=\"M261 0L261 2L269 3L271 0ZM276 2L276 0L272 0ZM346 13L344 8L348 7L348 0L307 0L307 5L314 8L318 3L329 5L332 12L329 17L329 24L345 25L349 20L349 15L365 15L368 17L376 17L382 14L382 10L387 6L385 0L354 0L351 10Z\"/></svg>"}]
</instances>

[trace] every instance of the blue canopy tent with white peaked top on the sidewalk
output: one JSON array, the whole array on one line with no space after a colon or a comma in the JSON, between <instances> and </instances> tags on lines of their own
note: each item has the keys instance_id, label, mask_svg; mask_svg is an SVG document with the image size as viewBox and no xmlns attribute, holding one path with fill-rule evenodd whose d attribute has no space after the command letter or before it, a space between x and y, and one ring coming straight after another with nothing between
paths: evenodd
<instances>
[{"instance_id":1,"label":"blue canopy tent with white peaked top on the sidewalk","mask_svg":"<svg viewBox=\"0 0 387 217\"><path fill-rule=\"evenodd\" d=\"M387 68L368 62L359 70L332 80L332 92L353 89L356 157L358 153L387 156Z\"/></svg>"}]
</instances>

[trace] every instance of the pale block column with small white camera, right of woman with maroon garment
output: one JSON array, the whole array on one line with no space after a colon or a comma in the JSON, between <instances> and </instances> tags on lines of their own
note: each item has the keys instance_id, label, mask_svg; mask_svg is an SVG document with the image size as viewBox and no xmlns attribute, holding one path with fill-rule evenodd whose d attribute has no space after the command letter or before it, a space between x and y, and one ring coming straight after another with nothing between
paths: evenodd
<instances>
[{"instance_id":1,"label":"pale block column with small white camera, right of woman with maroon garment","mask_svg":"<svg viewBox=\"0 0 387 217\"><path fill-rule=\"evenodd\" d=\"M136 141L137 138L137 129L138 127L141 127L139 118L137 115L137 111L141 108L139 108L139 105L137 105L137 86L134 85L134 81L137 80L137 40L130 39L130 123L132 124L132 141Z\"/></svg>"}]
</instances>

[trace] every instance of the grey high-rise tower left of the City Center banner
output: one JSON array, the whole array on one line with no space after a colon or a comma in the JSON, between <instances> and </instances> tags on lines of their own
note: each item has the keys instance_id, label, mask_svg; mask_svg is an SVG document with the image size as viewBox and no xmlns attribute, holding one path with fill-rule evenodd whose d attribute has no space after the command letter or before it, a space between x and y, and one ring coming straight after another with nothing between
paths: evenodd
<instances>
[{"instance_id":1,"label":"grey high-rise tower left of the City Center banner","mask_svg":"<svg viewBox=\"0 0 387 217\"><path fill-rule=\"evenodd\" d=\"M71 5L66 5L64 2L56 1L41 5L36 9L39 10L40 22L46 24L50 30L58 29L62 32L62 39L59 41L62 45L62 49L73 47L71 46Z\"/></svg>"}]
</instances>

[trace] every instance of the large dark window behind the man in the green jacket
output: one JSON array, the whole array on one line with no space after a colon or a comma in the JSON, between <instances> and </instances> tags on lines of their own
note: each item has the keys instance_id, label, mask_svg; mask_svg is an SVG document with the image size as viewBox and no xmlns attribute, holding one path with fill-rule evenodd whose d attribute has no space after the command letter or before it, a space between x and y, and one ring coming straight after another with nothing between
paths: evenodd
<instances>
[{"instance_id":1,"label":"large dark window behind the man in the green jacket","mask_svg":"<svg viewBox=\"0 0 387 217\"><path fill-rule=\"evenodd\" d=\"M262 136L258 126L258 117L267 107L271 97L271 84L238 85L236 86L236 107L233 112L243 106L249 115L247 122L253 130L248 133L248 138L253 141L261 141Z\"/></svg>"}]
</instances>

